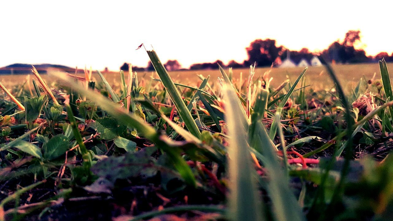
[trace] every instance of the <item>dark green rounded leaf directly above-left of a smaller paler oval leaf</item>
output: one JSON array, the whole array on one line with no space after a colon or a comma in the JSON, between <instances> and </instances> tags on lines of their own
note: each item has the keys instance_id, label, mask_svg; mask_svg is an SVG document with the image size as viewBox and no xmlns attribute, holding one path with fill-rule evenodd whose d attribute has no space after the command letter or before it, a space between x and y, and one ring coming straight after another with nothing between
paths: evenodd
<instances>
[{"instance_id":1,"label":"dark green rounded leaf directly above-left of a smaller paler oval leaf","mask_svg":"<svg viewBox=\"0 0 393 221\"><path fill-rule=\"evenodd\" d=\"M101 138L105 140L112 140L117 136L124 133L126 127L119 125L117 120L110 117L98 118L95 121L95 126L97 127L97 132L101 133Z\"/></svg>"}]
</instances>

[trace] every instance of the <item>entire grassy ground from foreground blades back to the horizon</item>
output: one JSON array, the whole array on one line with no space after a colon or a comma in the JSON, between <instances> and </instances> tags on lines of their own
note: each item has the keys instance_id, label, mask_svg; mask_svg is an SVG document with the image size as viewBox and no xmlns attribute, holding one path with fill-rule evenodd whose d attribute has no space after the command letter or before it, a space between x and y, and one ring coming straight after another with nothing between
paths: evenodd
<instances>
[{"instance_id":1,"label":"entire grassy ground from foreground blades back to the horizon","mask_svg":"<svg viewBox=\"0 0 393 221\"><path fill-rule=\"evenodd\" d=\"M384 60L168 74L147 53L161 82L0 77L0 221L391 220Z\"/></svg>"}]
</instances>

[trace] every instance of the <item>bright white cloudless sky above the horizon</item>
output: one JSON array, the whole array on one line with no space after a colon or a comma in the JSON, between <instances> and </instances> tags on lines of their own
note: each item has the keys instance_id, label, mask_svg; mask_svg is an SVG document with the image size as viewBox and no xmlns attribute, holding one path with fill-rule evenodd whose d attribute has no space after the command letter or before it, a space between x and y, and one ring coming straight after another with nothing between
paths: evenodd
<instances>
[{"instance_id":1,"label":"bright white cloudless sky above the horizon","mask_svg":"<svg viewBox=\"0 0 393 221\"><path fill-rule=\"evenodd\" d=\"M146 66L147 54L135 50L142 42L152 44L163 63L242 62L255 39L318 51L349 29L360 29L367 55L390 54L392 6L389 1L346 0L3 0L0 66Z\"/></svg>"}]
</instances>

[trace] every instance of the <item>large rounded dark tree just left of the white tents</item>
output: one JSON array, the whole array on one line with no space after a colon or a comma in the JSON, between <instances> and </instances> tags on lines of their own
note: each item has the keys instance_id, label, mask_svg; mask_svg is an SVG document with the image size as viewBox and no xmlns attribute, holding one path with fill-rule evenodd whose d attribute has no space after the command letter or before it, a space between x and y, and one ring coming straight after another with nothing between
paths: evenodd
<instances>
[{"instance_id":1,"label":"large rounded dark tree just left of the white tents","mask_svg":"<svg viewBox=\"0 0 393 221\"><path fill-rule=\"evenodd\" d=\"M273 39L257 39L246 48L248 61L244 65L257 63L258 66L270 66L275 59L282 55L284 47L275 45Z\"/></svg>"}]
</instances>

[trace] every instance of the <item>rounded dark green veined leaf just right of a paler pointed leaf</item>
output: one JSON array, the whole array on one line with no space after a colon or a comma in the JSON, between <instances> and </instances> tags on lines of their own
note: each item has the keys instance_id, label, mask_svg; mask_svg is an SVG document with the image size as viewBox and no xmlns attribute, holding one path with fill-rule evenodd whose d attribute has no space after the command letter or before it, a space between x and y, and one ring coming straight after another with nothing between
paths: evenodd
<instances>
[{"instance_id":1,"label":"rounded dark green veined leaf just right of a paler pointed leaf","mask_svg":"<svg viewBox=\"0 0 393 221\"><path fill-rule=\"evenodd\" d=\"M47 160L53 160L60 157L66 153L69 145L70 141L68 140L68 137L63 134L58 134L52 137L42 146L44 149L44 158Z\"/></svg>"}]
</instances>

